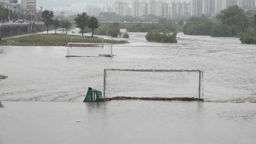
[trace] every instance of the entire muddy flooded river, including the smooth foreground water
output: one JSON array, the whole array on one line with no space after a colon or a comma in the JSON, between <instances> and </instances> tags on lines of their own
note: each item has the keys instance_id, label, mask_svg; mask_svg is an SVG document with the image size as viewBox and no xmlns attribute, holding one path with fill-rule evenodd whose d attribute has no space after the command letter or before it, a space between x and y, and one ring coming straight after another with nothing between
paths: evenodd
<instances>
[{"instance_id":1,"label":"entire muddy flooded river, including the smooth foreground water","mask_svg":"<svg viewBox=\"0 0 256 144\"><path fill-rule=\"evenodd\" d=\"M0 73L8 79L0 82L0 143L255 142L255 45L182 33L166 44L129 34L113 59L67 58L67 47L1 46ZM200 69L206 102L82 103L88 87L103 90L104 68Z\"/></svg>"}]
</instances>

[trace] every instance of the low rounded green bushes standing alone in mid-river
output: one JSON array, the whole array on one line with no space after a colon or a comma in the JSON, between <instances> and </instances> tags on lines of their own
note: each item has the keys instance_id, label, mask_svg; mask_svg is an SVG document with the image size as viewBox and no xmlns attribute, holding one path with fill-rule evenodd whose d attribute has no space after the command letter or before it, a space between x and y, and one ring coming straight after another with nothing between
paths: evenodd
<instances>
[{"instance_id":1,"label":"low rounded green bushes standing alone in mid-river","mask_svg":"<svg viewBox=\"0 0 256 144\"><path fill-rule=\"evenodd\" d=\"M177 43L177 32L149 32L145 37L147 41L162 42L162 43Z\"/></svg>"}]
</instances>

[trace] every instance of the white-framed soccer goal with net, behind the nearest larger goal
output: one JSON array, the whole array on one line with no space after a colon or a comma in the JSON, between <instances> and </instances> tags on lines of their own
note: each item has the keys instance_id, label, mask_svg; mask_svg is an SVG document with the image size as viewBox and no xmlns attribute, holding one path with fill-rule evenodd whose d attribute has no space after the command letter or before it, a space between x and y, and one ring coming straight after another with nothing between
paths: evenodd
<instances>
[{"instance_id":1,"label":"white-framed soccer goal with net, behind the nearest larger goal","mask_svg":"<svg viewBox=\"0 0 256 144\"><path fill-rule=\"evenodd\" d=\"M66 57L113 57L111 43L68 43Z\"/></svg>"}]
</instances>

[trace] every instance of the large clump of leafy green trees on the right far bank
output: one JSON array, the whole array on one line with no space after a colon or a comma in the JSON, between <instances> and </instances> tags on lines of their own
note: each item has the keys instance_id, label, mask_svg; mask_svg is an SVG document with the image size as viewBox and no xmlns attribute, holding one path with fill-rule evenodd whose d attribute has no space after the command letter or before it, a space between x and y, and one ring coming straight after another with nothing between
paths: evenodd
<instances>
[{"instance_id":1,"label":"large clump of leafy green trees on the right far bank","mask_svg":"<svg viewBox=\"0 0 256 144\"><path fill-rule=\"evenodd\" d=\"M253 16L246 15L238 6L222 10L216 18L218 22L210 21L206 16L193 17L184 25L183 32L188 35L238 36L249 27L256 28Z\"/></svg>"}]
</instances>

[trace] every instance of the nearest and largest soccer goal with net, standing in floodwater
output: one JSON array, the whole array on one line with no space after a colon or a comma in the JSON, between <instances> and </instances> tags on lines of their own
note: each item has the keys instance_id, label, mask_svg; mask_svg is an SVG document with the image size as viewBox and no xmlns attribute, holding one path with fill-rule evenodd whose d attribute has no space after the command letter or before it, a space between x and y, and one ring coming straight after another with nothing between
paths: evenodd
<instances>
[{"instance_id":1,"label":"nearest and largest soccer goal with net, standing in floodwater","mask_svg":"<svg viewBox=\"0 0 256 144\"><path fill-rule=\"evenodd\" d=\"M104 69L103 89L104 98L203 98L203 71Z\"/></svg>"}]
</instances>

